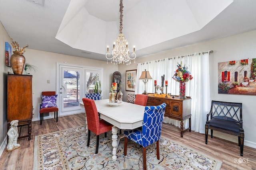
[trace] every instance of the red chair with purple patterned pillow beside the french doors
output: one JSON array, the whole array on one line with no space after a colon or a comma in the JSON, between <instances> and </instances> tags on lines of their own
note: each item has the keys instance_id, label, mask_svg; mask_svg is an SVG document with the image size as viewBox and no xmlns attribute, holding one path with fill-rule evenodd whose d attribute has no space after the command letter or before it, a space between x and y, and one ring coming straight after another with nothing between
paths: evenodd
<instances>
[{"instance_id":1,"label":"red chair with purple patterned pillow beside the french doors","mask_svg":"<svg viewBox=\"0 0 256 170\"><path fill-rule=\"evenodd\" d=\"M58 107L56 105L56 92L42 92L42 104L40 106L40 125L42 125L42 120L44 120L44 113L55 112L56 114L56 122L58 122Z\"/></svg>"}]
</instances>

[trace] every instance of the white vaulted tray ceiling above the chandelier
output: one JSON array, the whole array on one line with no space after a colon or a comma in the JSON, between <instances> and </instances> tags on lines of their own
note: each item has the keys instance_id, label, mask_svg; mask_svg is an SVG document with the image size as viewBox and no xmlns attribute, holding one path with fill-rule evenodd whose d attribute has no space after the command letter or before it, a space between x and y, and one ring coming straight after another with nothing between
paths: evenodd
<instances>
[{"instance_id":1,"label":"white vaulted tray ceiling above the chandelier","mask_svg":"<svg viewBox=\"0 0 256 170\"><path fill-rule=\"evenodd\" d=\"M256 29L256 0L123 4L123 33L137 57ZM20 46L102 61L119 33L119 16L119 0L0 0L0 21Z\"/></svg>"}]
</instances>

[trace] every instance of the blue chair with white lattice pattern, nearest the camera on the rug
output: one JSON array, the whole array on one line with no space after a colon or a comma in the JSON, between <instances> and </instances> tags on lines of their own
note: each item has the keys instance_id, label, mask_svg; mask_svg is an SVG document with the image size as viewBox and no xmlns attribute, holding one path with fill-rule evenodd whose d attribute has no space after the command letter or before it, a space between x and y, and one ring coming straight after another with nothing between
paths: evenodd
<instances>
[{"instance_id":1,"label":"blue chair with white lattice pattern, nearest the camera on the rug","mask_svg":"<svg viewBox=\"0 0 256 170\"><path fill-rule=\"evenodd\" d=\"M159 139L161 135L162 122L166 104L159 106L145 106L142 130L132 129L124 131L124 156L127 153L128 139L142 146L143 169L147 169L146 147L156 142L156 156L159 160Z\"/></svg>"}]
</instances>

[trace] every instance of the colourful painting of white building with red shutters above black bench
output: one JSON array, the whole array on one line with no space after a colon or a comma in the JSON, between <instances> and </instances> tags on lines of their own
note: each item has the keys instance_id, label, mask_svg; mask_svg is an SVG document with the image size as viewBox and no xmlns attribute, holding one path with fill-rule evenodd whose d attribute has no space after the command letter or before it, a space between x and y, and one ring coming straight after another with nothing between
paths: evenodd
<instances>
[{"instance_id":1,"label":"colourful painting of white building with red shutters above black bench","mask_svg":"<svg viewBox=\"0 0 256 170\"><path fill-rule=\"evenodd\" d=\"M256 59L218 63L218 93L256 95Z\"/></svg>"}]
</instances>

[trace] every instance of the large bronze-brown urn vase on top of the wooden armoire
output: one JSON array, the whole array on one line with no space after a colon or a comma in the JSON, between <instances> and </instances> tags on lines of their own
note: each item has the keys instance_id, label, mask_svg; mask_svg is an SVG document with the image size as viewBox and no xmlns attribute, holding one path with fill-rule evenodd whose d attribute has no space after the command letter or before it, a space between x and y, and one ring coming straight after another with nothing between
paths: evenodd
<instances>
[{"instance_id":1,"label":"large bronze-brown urn vase on top of the wooden armoire","mask_svg":"<svg viewBox=\"0 0 256 170\"><path fill-rule=\"evenodd\" d=\"M10 58L12 71L14 74L22 74L23 72L26 59L22 54L23 54L22 52L13 51L13 55Z\"/></svg>"}]
</instances>

